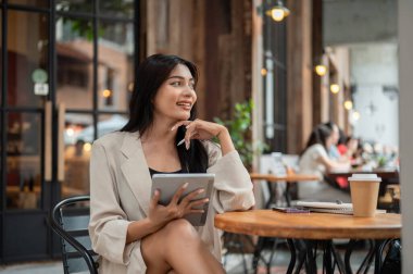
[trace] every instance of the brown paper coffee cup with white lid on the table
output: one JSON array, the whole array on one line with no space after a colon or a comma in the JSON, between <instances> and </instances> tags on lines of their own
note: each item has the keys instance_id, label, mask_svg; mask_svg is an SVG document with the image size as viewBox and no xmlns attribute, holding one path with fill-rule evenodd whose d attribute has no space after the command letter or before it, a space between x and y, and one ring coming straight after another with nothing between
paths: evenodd
<instances>
[{"instance_id":1,"label":"brown paper coffee cup with white lid on the table","mask_svg":"<svg viewBox=\"0 0 413 274\"><path fill-rule=\"evenodd\" d=\"M352 174L350 182L354 216L374 216L381 178L377 174Z\"/></svg>"}]
</instances>

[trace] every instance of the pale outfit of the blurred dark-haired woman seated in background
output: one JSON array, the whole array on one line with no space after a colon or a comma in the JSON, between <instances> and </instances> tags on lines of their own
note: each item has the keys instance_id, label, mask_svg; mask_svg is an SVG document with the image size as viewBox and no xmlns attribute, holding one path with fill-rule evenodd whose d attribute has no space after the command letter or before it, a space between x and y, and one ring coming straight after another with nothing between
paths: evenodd
<instances>
[{"instance_id":1,"label":"pale outfit of the blurred dark-haired woman seated in background","mask_svg":"<svg viewBox=\"0 0 413 274\"><path fill-rule=\"evenodd\" d=\"M320 144L315 144L308 148L301 155L299 161L301 174L317 175L320 180L300 182L298 184L298 196L300 200L308 201L336 201L350 202L349 194L334 188L324 182L323 175L327 167L323 164L322 158L327 158L327 151Z\"/></svg>"}]
</instances>

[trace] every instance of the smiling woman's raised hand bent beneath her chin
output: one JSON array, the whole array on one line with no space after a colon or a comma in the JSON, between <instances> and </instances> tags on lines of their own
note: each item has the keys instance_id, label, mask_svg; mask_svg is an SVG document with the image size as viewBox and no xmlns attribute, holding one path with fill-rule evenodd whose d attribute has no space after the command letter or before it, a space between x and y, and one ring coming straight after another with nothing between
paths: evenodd
<instances>
[{"instance_id":1,"label":"smiling woman's raised hand bent beneath her chin","mask_svg":"<svg viewBox=\"0 0 413 274\"><path fill-rule=\"evenodd\" d=\"M179 126L186 126L185 133L185 146L188 149L191 139L209 140L213 137L220 137L223 132L228 132L225 126L206 122L202 120L195 121L179 121L171 130L178 128Z\"/></svg>"}]
</instances>

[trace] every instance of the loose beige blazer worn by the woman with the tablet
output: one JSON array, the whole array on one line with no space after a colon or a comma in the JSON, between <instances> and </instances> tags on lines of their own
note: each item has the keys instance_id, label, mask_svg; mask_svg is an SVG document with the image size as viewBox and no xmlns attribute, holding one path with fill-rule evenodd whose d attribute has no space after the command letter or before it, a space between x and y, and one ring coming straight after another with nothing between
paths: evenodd
<instances>
[{"instance_id":1,"label":"loose beige blazer worn by the woman with the tablet","mask_svg":"<svg viewBox=\"0 0 413 274\"><path fill-rule=\"evenodd\" d=\"M209 154L208 173L215 174L214 197L201 239L221 260L220 232L214 215L247 210L254 204L252 183L237 151L221 155L221 149L203 141ZM145 273L140 241L128 245L130 222L147 217L151 176L137 133L112 133L96 140L90 159L90 223L93 250L101 256L99 273Z\"/></svg>"}]
</instances>

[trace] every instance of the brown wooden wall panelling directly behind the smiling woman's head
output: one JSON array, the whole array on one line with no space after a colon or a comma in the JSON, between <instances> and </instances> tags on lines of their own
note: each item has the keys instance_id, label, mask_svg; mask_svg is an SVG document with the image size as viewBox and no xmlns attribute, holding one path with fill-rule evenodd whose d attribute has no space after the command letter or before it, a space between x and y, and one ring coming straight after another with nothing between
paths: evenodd
<instances>
[{"instance_id":1,"label":"brown wooden wall panelling directly behind the smiling woman's head","mask_svg":"<svg viewBox=\"0 0 413 274\"><path fill-rule=\"evenodd\" d=\"M200 68L199 116L228 119L251 97L252 0L147 0L147 55L177 54Z\"/></svg>"}]
</instances>

